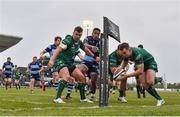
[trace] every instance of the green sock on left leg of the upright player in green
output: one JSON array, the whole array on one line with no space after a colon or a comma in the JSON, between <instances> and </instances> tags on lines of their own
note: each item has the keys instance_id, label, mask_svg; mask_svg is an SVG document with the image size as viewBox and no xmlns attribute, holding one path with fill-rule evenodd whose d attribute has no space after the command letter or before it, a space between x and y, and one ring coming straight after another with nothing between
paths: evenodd
<instances>
[{"instance_id":1,"label":"green sock on left leg of the upright player in green","mask_svg":"<svg viewBox=\"0 0 180 117\"><path fill-rule=\"evenodd\" d=\"M67 86L67 81L65 80L61 80L59 82L59 85L58 85L58 91L57 91L57 94L56 94L56 99L60 98L61 95L62 95L62 92L64 90L64 88Z\"/></svg>"}]
</instances>

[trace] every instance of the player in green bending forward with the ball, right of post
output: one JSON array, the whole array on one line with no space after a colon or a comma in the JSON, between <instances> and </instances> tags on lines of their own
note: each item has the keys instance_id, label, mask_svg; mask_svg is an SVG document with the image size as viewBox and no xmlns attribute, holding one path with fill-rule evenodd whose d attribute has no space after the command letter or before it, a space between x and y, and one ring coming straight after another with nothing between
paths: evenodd
<instances>
[{"instance_id":1,"label":"player in green bending forward with the ball, right of post","mask_svg":"<svg viewBox=\"0 0 180 117\"><path fill-rule=\"evenodd\" d=\"M152 87L156 82L156 72L158 72L154 57L145 49L129 47L128 43L122 43L119 49L123 57L129 58L129 60L133 61L135 66L137 66L136 71L125 74L121 80L138 76L147 92L157 99L157 106L162 106L165 103L164 99L162 99L155 88Z\"/></svg>"}]
</instances>

